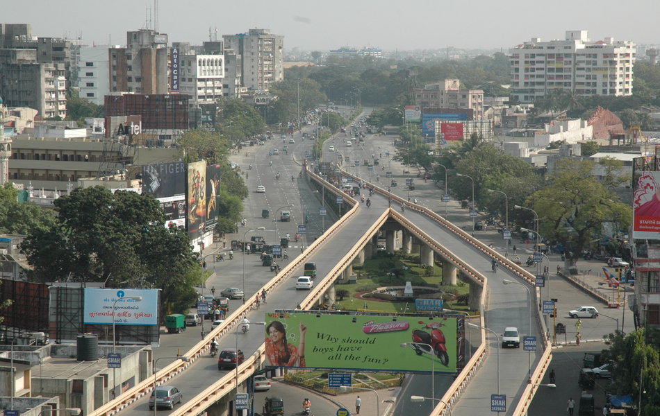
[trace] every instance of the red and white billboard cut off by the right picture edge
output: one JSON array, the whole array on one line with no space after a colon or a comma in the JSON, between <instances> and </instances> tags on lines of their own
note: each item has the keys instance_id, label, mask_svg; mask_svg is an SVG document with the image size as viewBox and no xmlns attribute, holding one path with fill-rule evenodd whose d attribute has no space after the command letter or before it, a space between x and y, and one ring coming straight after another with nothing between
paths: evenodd
<instances>
[{"instance_id":1,"label":"red and white billboard cut off by the right picture edge","mask_svg":"<svg viewBox=\"0 0 660 416\"><path fill-rule=\"evenodd\" d=\"M660 239L660 172L642 171L634 180L633 239ZM637 173L636 173L637 176Z\"/></svg>"}]
</instances>

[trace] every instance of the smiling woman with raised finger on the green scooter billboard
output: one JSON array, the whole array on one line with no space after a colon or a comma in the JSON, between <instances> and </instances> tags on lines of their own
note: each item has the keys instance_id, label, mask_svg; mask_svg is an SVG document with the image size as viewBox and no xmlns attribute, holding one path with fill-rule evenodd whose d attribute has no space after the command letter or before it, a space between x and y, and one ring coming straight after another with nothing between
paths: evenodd
<instances>
[{"instance_id":1,"label":"smiling woman with raised finger on the green scooter billboard","mask_svg":"<svg viewBox=\"0 0 660 416\"><path fill-rule=\"evenodd\" d=\"M279 321L270 322L266 327L266 358L270 365L281 367L306 367L305 333L307 327L300 322L300 342L298 347L288 343L286 328Z\"/></svg>"}]
</instances>

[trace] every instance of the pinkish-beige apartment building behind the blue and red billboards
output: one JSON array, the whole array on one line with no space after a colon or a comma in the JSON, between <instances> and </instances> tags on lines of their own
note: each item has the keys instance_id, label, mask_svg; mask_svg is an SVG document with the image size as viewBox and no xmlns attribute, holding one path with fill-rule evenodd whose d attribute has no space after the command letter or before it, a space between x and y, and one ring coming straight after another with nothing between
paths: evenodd
<instances>
[{"instance_id":1,"label":"pinkish-beige apartment building behind the blue and red billboards","mask_svg":"<svg viewBox=\"0 0 660 416\"><path fill-rule=\"evenodd\" d=\"M415 105L422 108L472 109L475 119L484 114L484 91L461 89L461 80L447 79L415 88Z\"/></svg>"}]
</instances>

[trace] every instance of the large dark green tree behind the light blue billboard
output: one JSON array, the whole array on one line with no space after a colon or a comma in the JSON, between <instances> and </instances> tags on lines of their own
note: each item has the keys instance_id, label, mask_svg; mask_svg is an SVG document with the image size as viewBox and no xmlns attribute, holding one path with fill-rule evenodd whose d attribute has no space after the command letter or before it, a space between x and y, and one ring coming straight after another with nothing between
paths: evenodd
<instances>
[{"instance_id":1,"label":"large dark green tree behind the light blue billboard","mask_svg":"<svg viewBox=\"0 0 660 416\"><path fill-rule=\"evenodd\" d=\"M165 303L190 293L183 276L195 268L196 254L183 227L164 227L165 215L152 196L90 187L54 205L56 223L35 230L20 247L33 279L162 288Z\"/></svg>"}]
</instances>

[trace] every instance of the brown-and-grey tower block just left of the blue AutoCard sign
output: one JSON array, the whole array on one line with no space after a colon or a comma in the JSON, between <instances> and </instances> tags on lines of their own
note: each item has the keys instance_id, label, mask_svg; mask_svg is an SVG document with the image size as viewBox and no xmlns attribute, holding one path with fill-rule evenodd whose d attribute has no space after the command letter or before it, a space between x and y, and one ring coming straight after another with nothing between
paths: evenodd
<instances>
[{"instance_id":1,"label":"brown-and-grey tower block just left of the blue AutoCard sign","mask_svg":"<svg viewBox=\"0 0 660 416\"><path fill-rule=\"evenodd\" d=\"M110 91L167 94L169 52L164 33L151 29L127 32L125 48L108 50Z\"/></svg>"}]
</instances>

